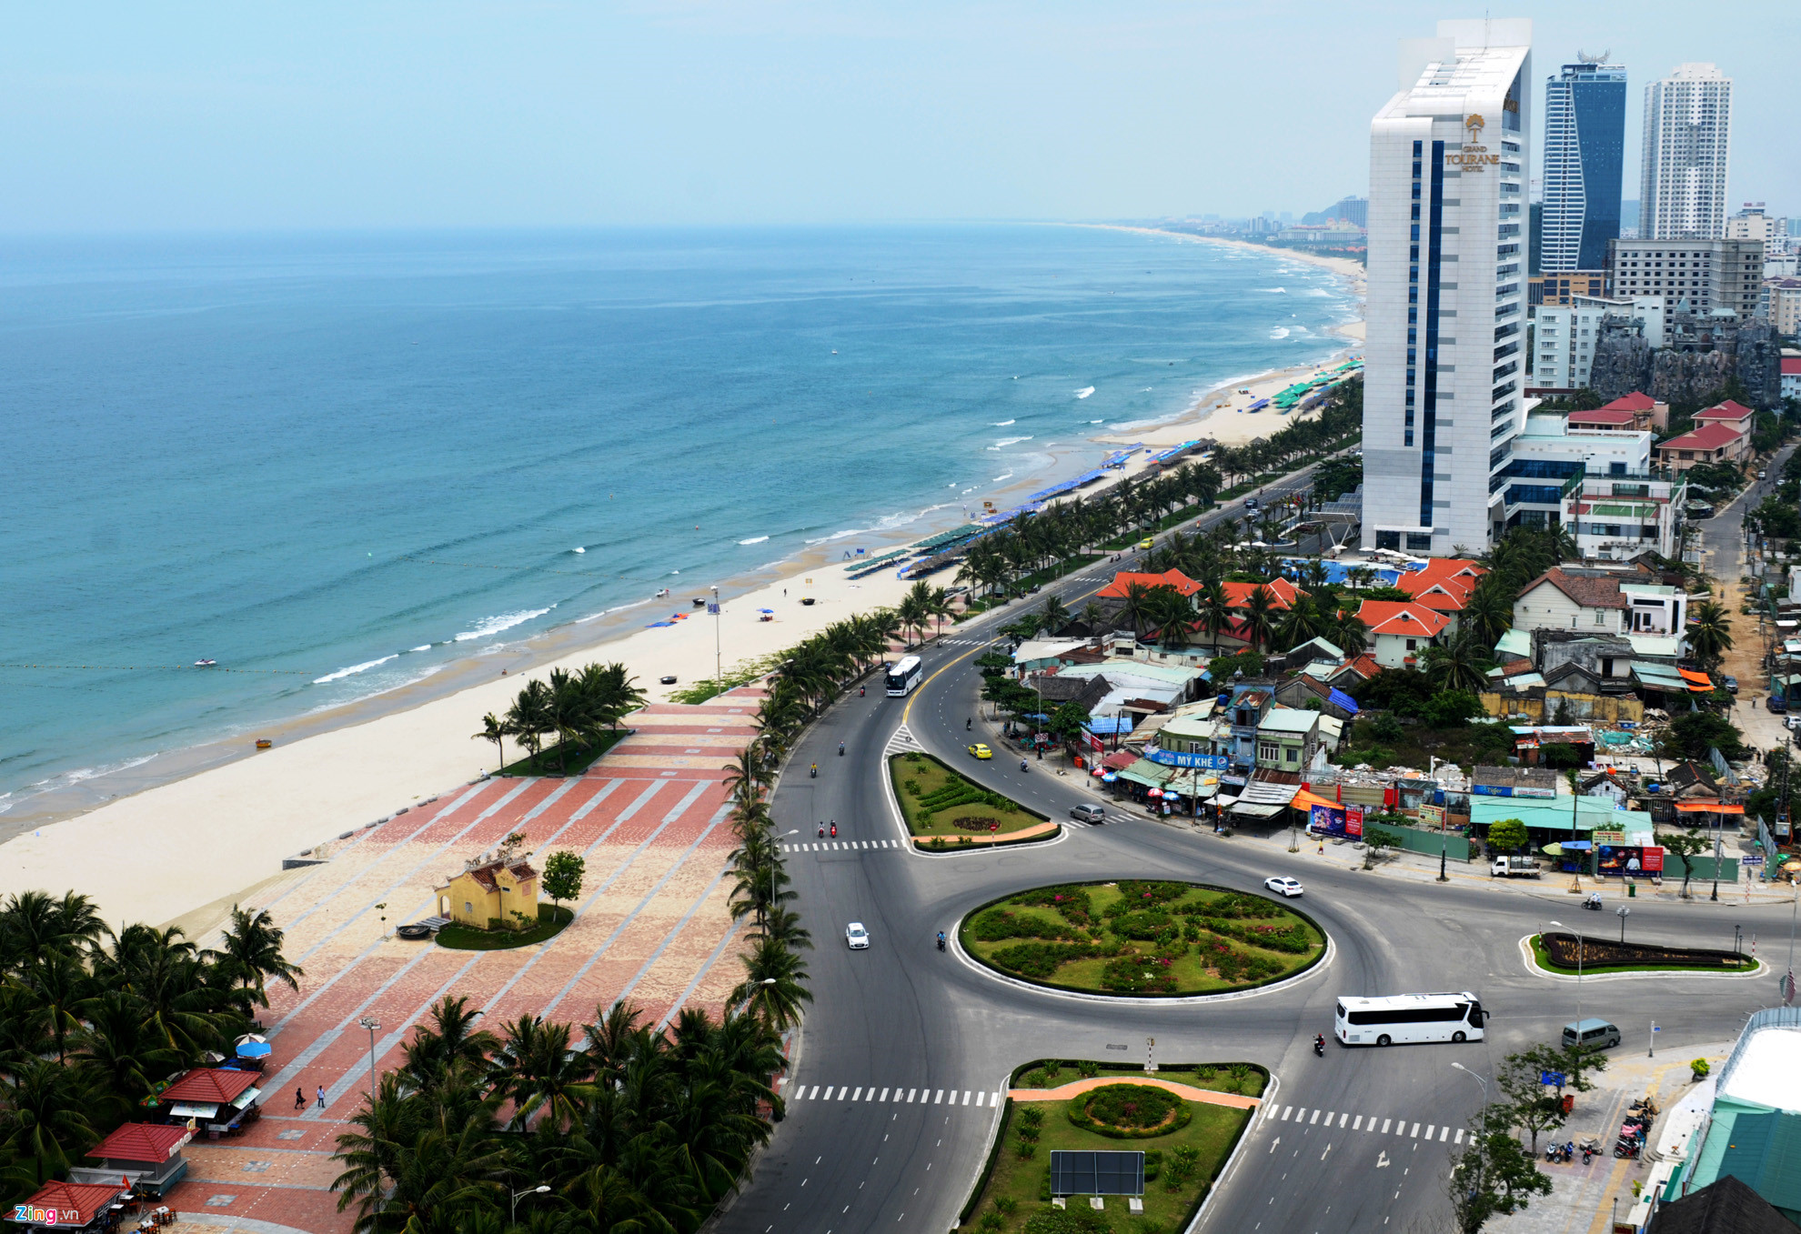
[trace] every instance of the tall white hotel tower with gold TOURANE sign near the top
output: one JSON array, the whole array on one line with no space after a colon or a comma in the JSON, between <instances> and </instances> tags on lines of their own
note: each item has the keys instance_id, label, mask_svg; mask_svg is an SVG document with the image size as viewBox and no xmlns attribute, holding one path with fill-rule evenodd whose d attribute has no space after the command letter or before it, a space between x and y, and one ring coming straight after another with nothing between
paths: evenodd
<instances>
[{"instance_id":1,"label":"tall white hotel tower with gold TOURANE sign near the top","mask_svg":"<svg viewBox=\"0 0 1801 1234\"><path fill-rule=\"evenodd\" d=\"M1479 551L1506 530L1525 367L1529 20L1401 43L1369 133L1363 546Z\"/></svg>"}]
</instances>

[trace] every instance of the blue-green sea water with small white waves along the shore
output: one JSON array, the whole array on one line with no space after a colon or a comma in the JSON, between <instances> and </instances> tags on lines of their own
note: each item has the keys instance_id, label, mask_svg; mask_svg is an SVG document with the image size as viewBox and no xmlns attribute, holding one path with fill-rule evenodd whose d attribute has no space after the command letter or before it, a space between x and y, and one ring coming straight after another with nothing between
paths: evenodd
<instances>
[{"instance_id":1,"label":"blue-green sea water with small white waves along the shore","mask_svg":"<svg viewBox=\"0 0 1801 1234\"><path fill-rule=\"evenodd\" d=\"M960 522L1353 315L1281 254L1032 225L13 240L0 292L0 812Z\"/></svg>"}]
</instances>

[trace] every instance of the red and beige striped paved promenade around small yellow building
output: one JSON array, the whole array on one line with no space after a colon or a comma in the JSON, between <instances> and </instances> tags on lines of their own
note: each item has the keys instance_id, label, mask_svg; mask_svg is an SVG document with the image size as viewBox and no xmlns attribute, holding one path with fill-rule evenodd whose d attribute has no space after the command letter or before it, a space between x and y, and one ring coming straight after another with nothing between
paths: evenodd
<instances>
[{"instance_id":1,"label":"red and beige striped paved promenade around small yellow building","mask_svg":"<svg viewBox=\"0 0 1801 1234\"><path fill-rule=\"evenodd\" d=\"M286 953L306 976L297 994L270 993L263 1119L241 1139L191 1146L171 1207L265 1234L256 1221L349 1230L353 1214L339 1214L330 1191L339 1173L330 1155L369 1086L362 1016L380 1023L375 1066L385 1070L445 994L481 1007L493 1032L526 1014L593 1021L621 998L650 1023L684 1005L717 1014L740 976L726 906L735 839L724 766L755 735L758 697L737 690L701 706L652 704L585 775L466 785L337 841L326 865L268 890L256 906L288 931ZM538 867L564 848L587 859L567 930L515 951L393 937L394 926L436 912L438 883L511 832L524 832ZM299 1110L295 1090L306 1097Z\"/></svg>"}]
</instances>

